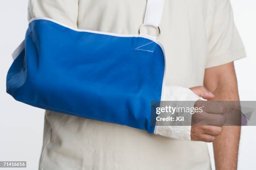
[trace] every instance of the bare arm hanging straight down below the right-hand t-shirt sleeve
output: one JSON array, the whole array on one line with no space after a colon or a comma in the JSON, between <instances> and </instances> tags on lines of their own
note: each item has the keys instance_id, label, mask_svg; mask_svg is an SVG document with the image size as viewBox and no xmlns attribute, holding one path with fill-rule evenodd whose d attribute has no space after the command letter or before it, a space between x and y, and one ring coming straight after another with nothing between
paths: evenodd
<instances>
[{"instance_id":1,"label":"bare arm hanging straight down below the right-hand t-shirt sleeve","mask_svg":"<svg viewBox=\"0 0 256 170\"><path fill-rule=\"evenodd\" d=\"M233 62L206 69L204 85L215 95L212 100L239 100ZM221 135L213 142L216 170L237 169L240 132L240 126L224 126Z\"/></svg>"}]
</instances>

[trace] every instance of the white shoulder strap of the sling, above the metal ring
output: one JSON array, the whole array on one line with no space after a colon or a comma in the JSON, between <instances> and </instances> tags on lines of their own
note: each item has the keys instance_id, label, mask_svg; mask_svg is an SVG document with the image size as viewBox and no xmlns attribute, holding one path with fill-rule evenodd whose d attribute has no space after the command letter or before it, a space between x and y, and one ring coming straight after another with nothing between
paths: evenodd
<instances>
[{"instance_id":1,"label":"white shoulder strap of the sling, above the metal ring","mask_svg":"<svg viewBox=\"0 0 256 170\"><path fill-rule=\"evenodd\" d=\"M158 27L164 9L164 0L148 0L143 25Z\"/></svg>"}]
</instances>

